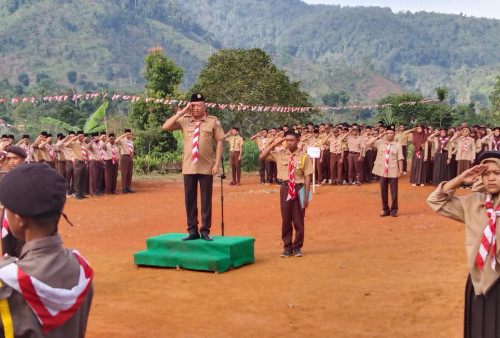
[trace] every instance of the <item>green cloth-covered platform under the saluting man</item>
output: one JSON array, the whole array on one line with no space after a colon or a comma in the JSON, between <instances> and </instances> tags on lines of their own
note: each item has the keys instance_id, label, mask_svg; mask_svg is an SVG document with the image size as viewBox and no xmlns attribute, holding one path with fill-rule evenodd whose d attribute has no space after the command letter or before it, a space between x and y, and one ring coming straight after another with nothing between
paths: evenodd
<instances>
[{"instance_id":1,"label":"green cloth-covered platform under the saluting man","mask_svg":"<svg viewBox=\"0 0 500 338\"><path fill-rule=\"evenodd\" d=\"M147 250L134 254L134 263L158 267L224 272L254 262L253 237L212 236L183 241L186 234L164 234L146 240Z\"/></svg>"}]
</instances>

